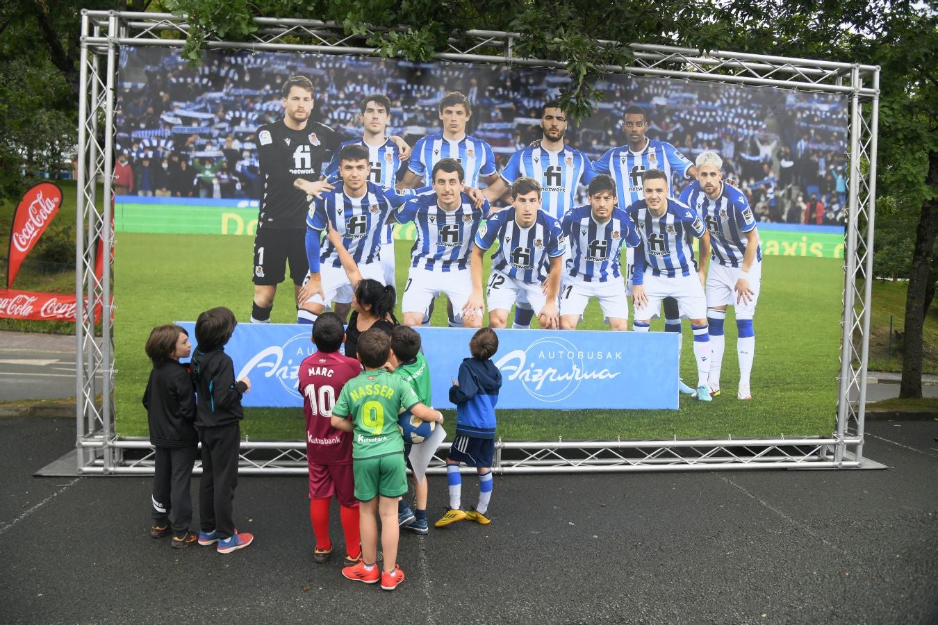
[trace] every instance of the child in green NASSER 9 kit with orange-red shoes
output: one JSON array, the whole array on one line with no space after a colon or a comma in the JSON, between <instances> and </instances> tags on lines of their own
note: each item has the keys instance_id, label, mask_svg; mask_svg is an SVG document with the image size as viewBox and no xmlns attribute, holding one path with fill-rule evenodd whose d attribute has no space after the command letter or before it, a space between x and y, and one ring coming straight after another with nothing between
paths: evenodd
<instances>
[{"instance_id":1,"label":"child in green NASSER 9 kit with orange-red shoes","mask_svg":"<svg viewBox=\"0 0 938 625\"><path fill-rule=\"evenodd\" d=\"M365 368L342 387L332 409L332 426L352 432L352 469L355 496L359 501L362 558L355 566L342 569L352 580L393 590L403 581L397 564L398 499L407 492L404 469L404 441L398 429L398 415L410 410L423 421L443 423L438 410L420 403L414 389L384 369L391 353L391 337L378 329L367 330L358 338L358 360ZM381 515L381 544L385 551L384 571L375 565L378 550L378 524Z\"/></svg>"}]
</instances>

